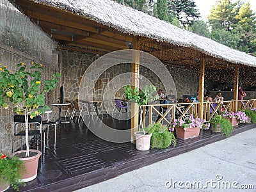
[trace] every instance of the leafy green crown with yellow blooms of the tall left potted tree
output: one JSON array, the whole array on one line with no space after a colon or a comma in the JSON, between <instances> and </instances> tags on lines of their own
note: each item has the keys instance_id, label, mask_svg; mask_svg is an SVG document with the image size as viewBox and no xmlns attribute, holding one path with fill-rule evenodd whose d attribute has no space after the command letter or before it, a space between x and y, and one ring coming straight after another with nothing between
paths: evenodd
<instances>
[{"instance_id":1,"label":"leafy green crown with yellow blooms of the tall left potted tree","mask_svg":"<svg viewBox=\"0 0 256 192\"><path fill-rule=\"evenodd\" d=\"M0 66L0 106L8 108L12 104L18 114L24 114L27 109L33 118L47 109L45 93L56 88L61 74L57 72L52 79L42 82L42 64L31 64L29 70L24 63L17 64L18 70L14 73L7 66Z\"/></svg>"}]
</instances>

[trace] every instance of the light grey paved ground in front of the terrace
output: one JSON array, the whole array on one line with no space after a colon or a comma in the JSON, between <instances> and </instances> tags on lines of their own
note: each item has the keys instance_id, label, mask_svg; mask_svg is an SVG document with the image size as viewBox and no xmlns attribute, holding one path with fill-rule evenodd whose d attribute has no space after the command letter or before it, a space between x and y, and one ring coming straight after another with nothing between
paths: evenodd
<instances>
[{"instance_id":1,"label":"light grey paved ground in front of the terrace","mask_svg":"<svg viewBox=\"0 0 256 192\"><path fill-rule=\"evenodd\" d=\"M256 191L255 138L251 129L78 191Z\"/></svg>"}]
</instances>

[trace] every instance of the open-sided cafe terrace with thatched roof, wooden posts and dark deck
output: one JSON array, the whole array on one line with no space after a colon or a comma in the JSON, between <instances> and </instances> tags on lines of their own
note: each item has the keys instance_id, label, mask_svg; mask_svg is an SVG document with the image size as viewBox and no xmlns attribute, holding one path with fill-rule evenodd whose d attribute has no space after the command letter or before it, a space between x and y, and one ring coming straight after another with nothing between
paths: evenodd
<instances>
[{"instance_id":1,"label":"open-sided cafe terrace with thatched roof, wooden posts and dark deck","mask_svg":"<svg viewBox=\"0 0 256 192\"><path fill-rule=\"evenodd\" d=\"M143 106L149 111L143 113L145 124L155 120L156 116L159 116L159 122L170 124L177 114L179 118L192 114L209 121L223 109L238 111L256 107L255 57L114 1L0 0L0 17L0 63L10 65L38 61L45 66L45 79L54 72L61 72L58 89L46 95L49 105L60 102L60 86L64 87L66 101L79 99L79 84L83 81L84 72L100 56L132 49L147 52L164 64L172 75L175 95L180 102L188 95L196 95L198 90L198 102L183 104L186 106L184 110L180 109L180 104L164 106L164 113L159 111L159 103ZM51 145L52 134L49 133L50 148L45 151L38 177L20 188L21 191L83 188L223 139L220 134L204 132L196 139L178 140L175 148L150 150L147 154L135 150L132 142L133 132L138 130L138 106L134 103L129 106L131 120L118 122L109 115L113 113L115 105L111 106L111 102L103 100L102 93L111 79L126 72L133 73L127 78L132 79L134 86L140 87L140 74L155 84L157 89L163 89L165 85L154 72L140 65L140 54L132 55L131 59L131 63L122 63L106 70L95 81L94 87L88 88L93 90L93 100L106 102L98 111L104 123L118 127L116 129L134 128L129 134L131 143L100 140L88 129L97 125L93 115L98 114L88 115L84 111L84 121L90 121L86 127L83 120L77 120L77 110L75 117L68 119L69 124L58 127L55 147ZM15 70L15 65L11 69ZM124 76L118 84L124 83L127 78ZM216 88L223 90L227 84L230 91L222 92L224 102L204 102L205 87L207 90L214 88L215 93ZM248 96L243 102L237 99L238 84L248 87ZM163 89L163 92L168 94L169 90ZM124 89L117 90L115 97L124 97ZM54 114L58 114L58 110L54 106L51 108L50 118L56 118L58 115ZM10 154L13 111L0 110L0 124L6 128L0 133L0 151ZM62 116L65 116L64 111ZM232 134L254 127L253 124L237 126ZM19 143L20 140L15 138L15 149L19 148Z\"/></svg>"}]
</instances>

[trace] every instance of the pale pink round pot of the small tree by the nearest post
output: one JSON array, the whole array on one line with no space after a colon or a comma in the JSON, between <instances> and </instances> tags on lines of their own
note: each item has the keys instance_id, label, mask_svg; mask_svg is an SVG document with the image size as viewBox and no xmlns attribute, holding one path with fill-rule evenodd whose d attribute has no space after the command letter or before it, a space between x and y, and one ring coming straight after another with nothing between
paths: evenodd
<instances>
[{"instance_id":1,"label":"pale pink round pot of the small tree by the nearest post","mask_svg":"<svg viewBox=\"0 0 256 192\"><path fill-rule=\"evenodd\" d=\"M143 134L142 131L134 132L135 136L135 142L136 142L136 148L138 150L149 150L150 148L150 140L151 140L151 134Z\"/></svg>"}]
</instances>

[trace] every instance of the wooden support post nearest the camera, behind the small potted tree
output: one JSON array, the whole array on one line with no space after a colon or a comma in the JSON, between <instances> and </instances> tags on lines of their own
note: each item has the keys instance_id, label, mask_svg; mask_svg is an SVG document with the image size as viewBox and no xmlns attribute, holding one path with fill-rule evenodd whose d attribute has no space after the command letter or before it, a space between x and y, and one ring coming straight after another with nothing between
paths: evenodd
<instances>
[{"instance_id":1,"label":"wooden support post nearest the camera, behind the small potted tree","mask_svg":"<svg viewBox=\"0 0 256 192\"><path fill-rule=\"evenodd\" d=\"M139 40L137 36L132 38L132 49L139 49ZM132 54L132 86L139 87L140 81L140 52ZM131 104L131 143L134 143L134 132L138 131L139 125L139 107L138 104Z\"/></svg>"}]
</instances>

